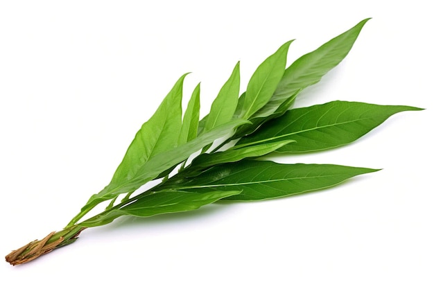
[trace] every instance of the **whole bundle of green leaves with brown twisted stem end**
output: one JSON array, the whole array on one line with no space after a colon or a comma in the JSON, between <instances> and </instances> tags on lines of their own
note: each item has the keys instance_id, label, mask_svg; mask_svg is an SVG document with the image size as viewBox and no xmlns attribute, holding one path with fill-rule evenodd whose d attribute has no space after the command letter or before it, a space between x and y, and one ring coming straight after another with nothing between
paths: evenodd
<instances>
[{"instance_id":1,"label":"whole bundle of green leaves with brown twisted stem end","mask_svg":"<svg viewBox=\"0 0 434 289\"><path fill-rule=\"evenodd\" d=\"M84 229L121 216L149 217L191 211L216 201L280 198L325 189L372 168L332 164L277 164L259 159L271 152L296 154L343 146L362 137L402 105L333 101L291 109L297 95L336 67L368 19L286 67L292 41L254 71L240 95L239 62L200 119L200 85L183 114L181 76L141 126L110 184L92 195L68 225L12 251L6 261L26 263L77 240ZM155 179L156 186L141 187ZM88 217L102 202L107 207ZM86 218L85 218L86 217Z\"/></svg>"}]
</instances>

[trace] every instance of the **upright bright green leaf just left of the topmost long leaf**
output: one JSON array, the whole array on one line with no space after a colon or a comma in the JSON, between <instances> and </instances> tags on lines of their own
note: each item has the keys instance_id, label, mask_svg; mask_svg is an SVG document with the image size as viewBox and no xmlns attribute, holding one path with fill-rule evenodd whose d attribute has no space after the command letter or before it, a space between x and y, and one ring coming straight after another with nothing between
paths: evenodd
<instances>
[{"instance_id":1,"label":"upright bright green leaf just left of the topmost long leaf","mask_svg":"<svg viewBox=\"0 0 434 289\"><path fill-rule=\"evenodd\" d=\"M266 105L275 92L285 71L286 57L291 42L293 40L282 45L254 71L245 91L241 114L244 119L249 119L250 116Z\"/></svg>"}]
</instances>

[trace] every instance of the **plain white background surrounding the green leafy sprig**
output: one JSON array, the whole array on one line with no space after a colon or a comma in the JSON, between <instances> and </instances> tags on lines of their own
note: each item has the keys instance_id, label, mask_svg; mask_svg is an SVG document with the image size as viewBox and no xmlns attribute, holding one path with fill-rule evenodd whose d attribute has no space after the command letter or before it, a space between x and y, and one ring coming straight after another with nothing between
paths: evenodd
<instances>
[{"instance_id":1,"label":"plain white background surrounding the green leafy sprig","mask_svg":"<svg viewBox=\"0 0 434 289\"><path fill-rule=\"evenodd\" d=\"M388 4L390 3L390 4ZM393 4L392 4L393 3ZM110 181L182 73L202 116L241 60L292 62L366 17L297 106L413 105L344 148L279 161L384 168L318 193L88 229L2 288L433 288L434 22L414 1L1 1L0 251L60 230ZM187 100L187 99L186 99Z\"/></svg>"}]
</instances>

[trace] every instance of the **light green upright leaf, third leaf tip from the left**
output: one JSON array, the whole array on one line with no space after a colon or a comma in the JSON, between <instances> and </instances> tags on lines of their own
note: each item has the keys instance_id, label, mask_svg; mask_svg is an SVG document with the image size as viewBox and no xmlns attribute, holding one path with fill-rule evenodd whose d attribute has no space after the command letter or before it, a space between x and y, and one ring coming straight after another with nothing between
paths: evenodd
<instances>
[{"instance_id":1,"label":"light green upright leaf, third leaf tip from the left","mask_svg":"<svg viewBox=\"0 0 434 289\"><path fill-rule=\"evenodd\" d=\"M240 93L240 62L238 62L231 76L220 89L218 95L211 105L205 123L205 132L215 128L218 125L227 123L234 116L238 96Z\"/></svg>"}]
</instances>

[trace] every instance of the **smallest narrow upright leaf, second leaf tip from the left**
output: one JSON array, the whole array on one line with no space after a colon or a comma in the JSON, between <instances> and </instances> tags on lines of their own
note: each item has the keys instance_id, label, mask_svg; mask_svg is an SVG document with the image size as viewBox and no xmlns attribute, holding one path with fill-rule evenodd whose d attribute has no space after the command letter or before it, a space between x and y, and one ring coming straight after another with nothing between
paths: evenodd
<instances>
[{"instance_id":1,"label":"smallest narrow upright leaf, second leaf tip from the left","mask_svg":"<svg viewBox=\"0 0 434 289\"><path fill-rule=\"evenodd\" d=\"M189 104L182 119L182 127L180 137L178 138L178 146L195 139L198 135L198 123L200 112L200 83L193 90Z\"/></svg>"}]
</instances>

